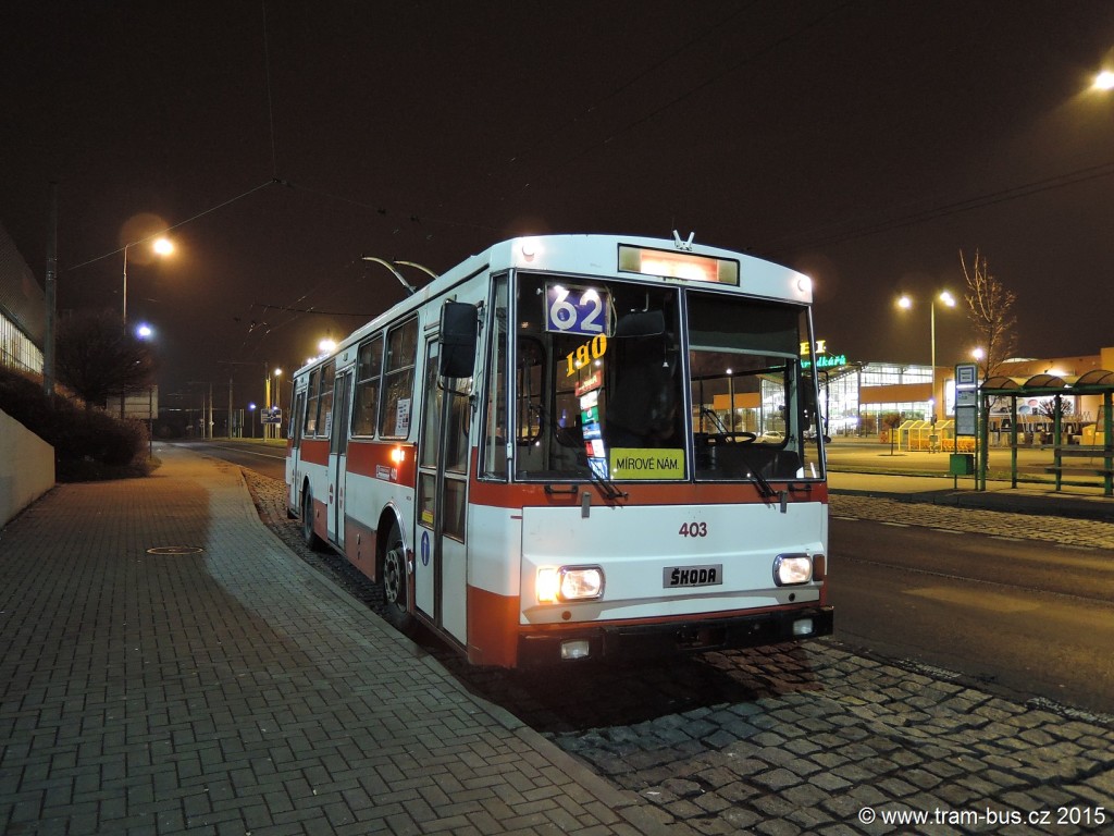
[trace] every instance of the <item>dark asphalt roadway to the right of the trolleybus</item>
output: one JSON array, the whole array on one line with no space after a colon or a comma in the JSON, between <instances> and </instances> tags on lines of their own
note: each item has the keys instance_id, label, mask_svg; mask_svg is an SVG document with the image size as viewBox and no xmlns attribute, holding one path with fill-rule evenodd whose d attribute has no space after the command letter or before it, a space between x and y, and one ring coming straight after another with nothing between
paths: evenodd
<instances>
[{"instance_id":1,"label":"dark asphalt roadway to the right of the trolleybus","mask_svg":"<svg viewBox=\"0 0 1114 836\"><path fill-rule=\"evenodd\" d=\"M830 547L848 647L1114 713L1114 552L838 518Z\"/></svg>"}]
</instances>

